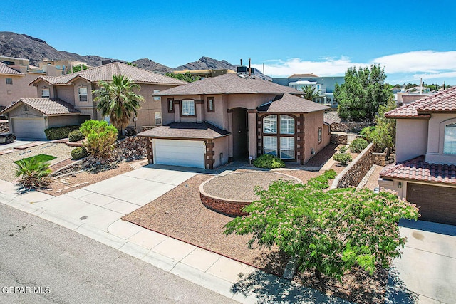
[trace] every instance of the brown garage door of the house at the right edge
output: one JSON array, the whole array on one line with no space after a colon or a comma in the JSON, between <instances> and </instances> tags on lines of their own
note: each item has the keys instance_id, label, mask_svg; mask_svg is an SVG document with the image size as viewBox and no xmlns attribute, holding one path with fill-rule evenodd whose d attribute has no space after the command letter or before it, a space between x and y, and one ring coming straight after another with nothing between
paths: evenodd
<instances>
[{"instance_id":1,"label":"brown garage door of the house at the right edge","mask_svg":"<svg viewBox=\"0 0 456 304\"><path fill-rule=\"evenodd\" d=\"M407 200L420 207L420 219L456 225L456 188L408 183Z\"/></svg>"}]
</instances>

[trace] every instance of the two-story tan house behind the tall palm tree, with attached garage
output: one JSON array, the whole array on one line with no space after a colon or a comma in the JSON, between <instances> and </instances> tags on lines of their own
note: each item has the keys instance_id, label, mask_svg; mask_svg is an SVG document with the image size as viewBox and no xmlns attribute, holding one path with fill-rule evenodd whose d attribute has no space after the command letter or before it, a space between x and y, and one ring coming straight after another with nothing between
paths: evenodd
<instances>
[{"instance_id":1,"label":"two-story tan house behind the tall palm tree, with attached garage","mask_svg":"<svg viewBox=\"0 0 456 304\"><path fill-rule=\"evenodd\" d=\"M96 110L96 103L93 101L93 98L95 98L93 90L99 88L98 83L100 81L113 80L113 75L125 75L141 86L138 93L145 98L145 103L141 104L137 117L132 117L130 120L130 126L135 127L138 131L141 130L141 127L162 125L160 98L153 97L153 93L186 84L184 81L175 78L136 68L125 63L115 62L100 65L96 68L89 68L78 73L56 77L40 76L33 80L30 85L35 87L35 97L40 99L39 103L46 103L48 108L54 108L57 103L63 102L79 112L78 115L81 115L82 118L78 119L78 121L87 119L103 120L105 117L102 117L100 112ZM26 105L24 100L20 100L20 102ZM12 105L0 112L0 115L5 114L9 117L9 130L16 133L17 137L46 138L43 126L48 128L77 124L75 123L76 118L70 119L66 114L56 114L60 115L61 119L58 120L58 123L51 123L46 120L46 114L43 116L43 113L27 112L24 108L19 107L19 104ZM108 118L106 119L108 120ZM56 118L53 118L53 121L56 122ZM28 127L19 126L21 124ZM24 129L28 129L28 131L24 132Z\"/></svg>"}]
</instances>

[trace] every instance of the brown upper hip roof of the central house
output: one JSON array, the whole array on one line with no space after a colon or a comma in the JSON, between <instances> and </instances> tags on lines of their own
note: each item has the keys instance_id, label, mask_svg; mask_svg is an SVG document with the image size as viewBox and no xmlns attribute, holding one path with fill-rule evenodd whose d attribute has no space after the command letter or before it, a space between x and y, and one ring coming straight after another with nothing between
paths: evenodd
<instances>
[{"instance_id":1,"label":"brown upper hip roof of the central house","mask_svg":"<svg viewBox=\"0 0 456 304\"><path fill-rule=\"evenodd\" d=\"M202 95L202 94L299 94L294 88L278 85L260 78L240 77L237 73L228 73L217 77L204 78L176 88L162 90L155 96Z\"/></svg>"}]
</instances>

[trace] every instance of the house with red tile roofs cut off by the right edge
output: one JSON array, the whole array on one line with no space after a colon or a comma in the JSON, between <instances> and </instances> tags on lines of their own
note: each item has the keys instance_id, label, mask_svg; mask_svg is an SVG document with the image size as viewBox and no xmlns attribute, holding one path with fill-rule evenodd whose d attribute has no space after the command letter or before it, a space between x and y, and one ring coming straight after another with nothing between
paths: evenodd
<instances>
[{"instance_id":1,"label":"house with red tile roofs cut off by the right edge","mask_svg":"<svg viewBox=\"0 0 456 304\"><path fill-rule=\"evenodd\" d=\"M380 172L380 187L420 206L420 219L456 225L456 88L391 110L396 164Z\"/></svg>"}]
</instances>

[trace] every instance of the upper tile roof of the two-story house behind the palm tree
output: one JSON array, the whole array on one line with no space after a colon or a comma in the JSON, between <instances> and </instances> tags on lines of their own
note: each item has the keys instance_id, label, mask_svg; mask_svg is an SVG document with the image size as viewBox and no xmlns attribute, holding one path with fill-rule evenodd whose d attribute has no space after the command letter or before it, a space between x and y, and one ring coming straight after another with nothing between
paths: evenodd
<instances>
[{"instance_id":1,"label":"upper tile roof of the two-story house behind the palm tree","mask_svg":"<svg viewBox=\"0 0 456 304\"><path fill-rule=\"evenodd\" d=\"M125 75L134 83L153 83L162 85L185 85L185 81L178 80L175 78L160 75L158 73L151 72L150 70L144 70L137 68L133 65L125 63L115 62L105 65L100 65L95 68L89 68L88 70L81 70L81 72L71 73L68 75L61 75L57 77L42 76L33 80L35 83L37 80L42 79L52 85L68 84L76 78L83 78L84 80L95 83L98 81L111 81L113 75Z\"/></svg>"}]
</instances>

